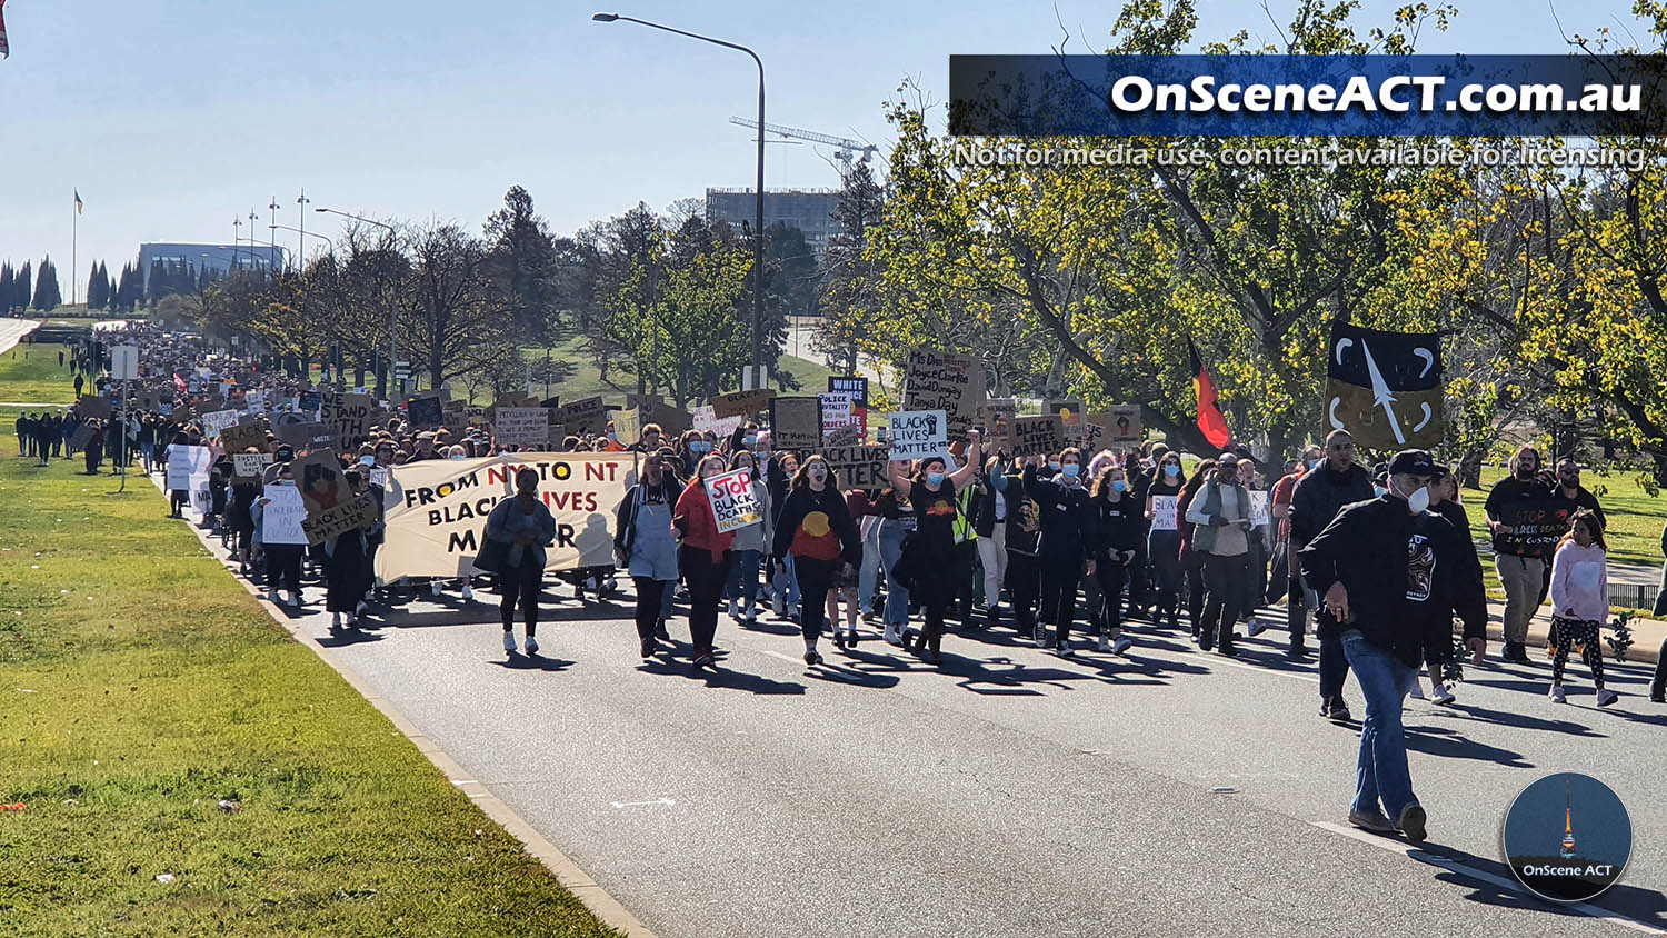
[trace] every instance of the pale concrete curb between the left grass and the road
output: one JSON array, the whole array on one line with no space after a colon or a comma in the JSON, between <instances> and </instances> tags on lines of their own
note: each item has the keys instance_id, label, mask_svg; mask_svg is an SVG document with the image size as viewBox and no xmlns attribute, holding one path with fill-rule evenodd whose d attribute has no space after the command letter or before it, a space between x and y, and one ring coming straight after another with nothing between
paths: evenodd
<instances>
[{"instance_id":1,"label":"pale concrete curb between the left grass and the road","mask_svg":"<svg viewBox=\"0 0 1667 938\"><path fill-rule=\"evenodd\" d=\"M128 475L132 476L135 473L130 471ZM140 471L138 475L143 475L143 471ZM155 475L147 476L147 480L152 485L157 485L158 491L163 496L167 496L167 491L162 488L162 483L157 481ZM220 563L220 566L223 568L225 565L215 553L213 545L210 541L210 535L195 523L192 523L190 518L185 518L185 526L193 535L197 535L197 540L202 541L203 550L207 550L208 555L213 556L215 563ZM227 570L227 573L230 573L230 570ZM543 863L543 866L550 871L550 875L555 876L555 881L560 883L567 891L573 893L573 896L577 896L578 901L585 903L585 908L588 908L592 915L602 920L603 925L617 931L622 931L630 938L657 938L655 933L647 925L642 923L642 920L638 920L635 915L630 913L630 910L620 905L617 898L613 898L605 888L602 888L595 881L593 876L590 876L590 873L585 873L585 870L580 868L578 863L573 863L565 853L562 853L553 843L550 843L542 833L538 833L537 828L527 823L525 818L517 815L513 808L498 800L498 796L493 795L485 785L470 778L468 771L463 766L457 765L457 761L452 756L448 756L438 745L435 745L433 740L430 740L417 726L413 726L412 721L407 720L405 715L400 713L398 708L395 708L390 700L377 695L377 691L372 690L363 680L360 680L358 675L348 670L347 665L337 661L335 656L330 655L328 648L318 645L318 640L308 635L303 630L303 626L300 626L298 623L292 623L288 616L285 616L278 610L278 606L268 603L267 598L262 595L260 588L257 588L253 583L250 583L242 576L233 575L232 580L237 585L243 586L243 590L255 600L255 603L260 605L260 610L267 613L267 616L272 621L275 621L280 628L290 633L290 638L305 645L307 648L312 648L312 651L318 655L318 658L323 660L325 665L330 665L330 668L337 675L340 675L342 680L348 683L348 686L358 691L358 695L363 696L372 706L375 706L377 711L387 716L388 721L393 723L393 728L398 730L407 740L410 740L412 745L417 746L417 751L420 751L430 763L433 763L435 768L445 773L445 778L458 791L467 795L473 805L477 805L482 811L485 811L485 815L492 818L498 826L508 831L510 836L522 841L522 846L527 850L527 853L537 856L538 861Z\"/></svg>"}]
</instances>

